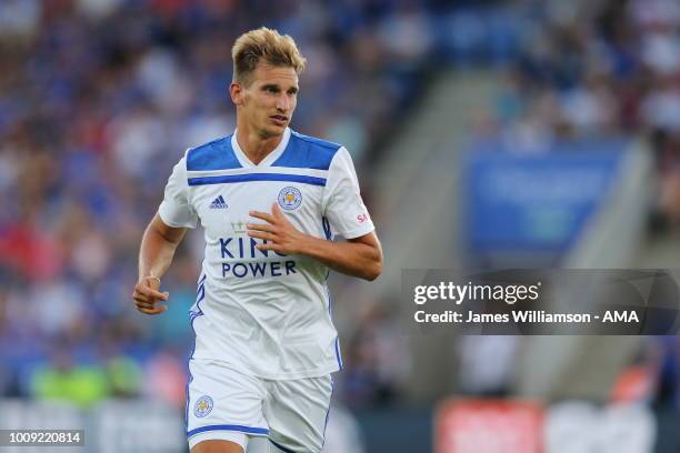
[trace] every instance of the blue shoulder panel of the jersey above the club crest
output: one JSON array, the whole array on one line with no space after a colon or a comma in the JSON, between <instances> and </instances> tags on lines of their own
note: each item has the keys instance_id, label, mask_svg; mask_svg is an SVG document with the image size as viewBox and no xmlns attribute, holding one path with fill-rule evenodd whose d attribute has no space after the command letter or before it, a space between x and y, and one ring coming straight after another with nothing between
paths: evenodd
<instances>
[{"instance_id":1,"label":"blue shoulder panel of the jersey above the club crest","mask_svg":"<svg viewBox=\"0 0 680 453\"><path fill-rule=\"evenodd\" d=\"M283 153L271 167L328 170L340 144L291 131Z\"/></svg>"}]
</instances>

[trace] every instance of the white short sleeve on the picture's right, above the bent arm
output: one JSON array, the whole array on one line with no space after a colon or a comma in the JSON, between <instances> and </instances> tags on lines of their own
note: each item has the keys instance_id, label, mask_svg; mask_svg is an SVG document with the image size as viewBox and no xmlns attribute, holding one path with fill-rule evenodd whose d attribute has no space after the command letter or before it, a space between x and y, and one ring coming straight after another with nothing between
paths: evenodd
<instances>
[{"instance_id":1,"label":"white short sleeve on the picture's right, above the bent arm","mask_svg":"<svg viewBox=\"0 0 680 453\"><path fill-rule=\"evenodd\" d=\"M332 231L346 239L359 238L374 230L361 200L352 158L344 148L338 150L328 170L323 214Z\"/></svg>"}]
</instances>

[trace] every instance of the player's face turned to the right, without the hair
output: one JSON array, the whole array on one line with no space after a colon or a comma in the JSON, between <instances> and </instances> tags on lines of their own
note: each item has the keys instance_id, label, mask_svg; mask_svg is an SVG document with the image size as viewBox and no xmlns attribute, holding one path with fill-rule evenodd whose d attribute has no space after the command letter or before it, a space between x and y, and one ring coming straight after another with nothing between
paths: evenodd
<instances>
[{"instance_id":1,"label":"player's face turned to the right, without the hair","mask_svg":"<svg viewBox=\"0 0 680 453\"><path fill-rule=\"evenodd\" d=\"M250 84L231 84L239 115L261 138L281 135L298 103L298 74L290 67L258 63Z\"/></svg>"}]
</instances>

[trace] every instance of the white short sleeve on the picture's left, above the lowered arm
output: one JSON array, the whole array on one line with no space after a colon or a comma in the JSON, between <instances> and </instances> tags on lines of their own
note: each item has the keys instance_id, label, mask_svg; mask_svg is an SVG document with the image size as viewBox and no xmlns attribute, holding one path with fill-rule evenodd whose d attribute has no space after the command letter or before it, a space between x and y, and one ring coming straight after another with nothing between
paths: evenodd
<instances>
[{"instance_id":1,"label":"white short sleeve on the picture's left, above the lowered arm","mask_svg":"<svg viewBox=\"0 0 680 453\"><path fill-rule=\"evenodd\" d=\"M172 169L158 214L163 223L173 228L196 228L198 224L198 215L189 203L186 157Z\"/></svg>"}]
</instances>

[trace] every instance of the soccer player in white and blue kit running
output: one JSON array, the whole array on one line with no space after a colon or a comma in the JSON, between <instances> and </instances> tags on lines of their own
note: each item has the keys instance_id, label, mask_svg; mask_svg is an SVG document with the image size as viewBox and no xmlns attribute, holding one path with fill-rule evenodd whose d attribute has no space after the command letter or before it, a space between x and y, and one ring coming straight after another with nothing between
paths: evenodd
<instances>
[{"instance_id":1,"label":"soccer player in white and blue kit running","mask_svg":"<svg viewBox=\"0 0 680 453\"><path fill-rule=\"evenodd\" d=\"M142 313L166 310L161 278L200 222L191 451L240 453L250 437L267 436L272 452L320 452L331 373L342 368L329 268L373 280L382 251L348 151L288 128L306 64L294 41L249 31L232 59L237 129L187 150L174 167L141 241L133 299Z\"/></svg>"}]
</instances>

